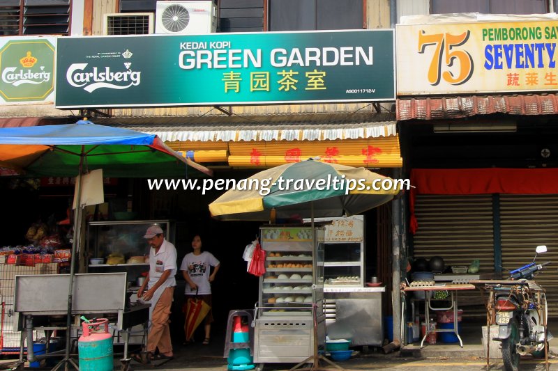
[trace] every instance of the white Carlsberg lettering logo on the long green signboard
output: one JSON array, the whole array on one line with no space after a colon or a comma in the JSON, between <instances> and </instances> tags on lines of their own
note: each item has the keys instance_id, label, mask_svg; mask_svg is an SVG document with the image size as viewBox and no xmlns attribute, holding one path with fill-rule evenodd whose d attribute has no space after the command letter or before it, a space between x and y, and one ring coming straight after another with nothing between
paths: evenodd
<instances>
[{"instance_id":1,"label":"white Carlsberg lettering logo on the long green signboard","mask_svg":"<svg viewBox=\"0 0 558 371\"><path fill-rule=\"evenodd\" d=\"M84 88L86 92L92 93L99 88L109 89L127 89L130 86L140 85L142 72L136 72L129 69L130 64L126 66L125 71L113 72L110 67L99 69L93 67L91 72L87 72L86 68L89 63L73 63L66 72L66 80L75 88Z\"/></svg>"}]
</instances>

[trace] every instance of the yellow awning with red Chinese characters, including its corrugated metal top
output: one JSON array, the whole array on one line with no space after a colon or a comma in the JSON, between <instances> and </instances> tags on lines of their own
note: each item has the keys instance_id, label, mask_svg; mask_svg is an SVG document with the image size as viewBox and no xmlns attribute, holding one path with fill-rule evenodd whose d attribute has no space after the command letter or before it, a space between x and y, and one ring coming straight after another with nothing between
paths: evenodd
<instances>
[{"instance_id":1,"label":"yellow awning with red Chinese characters, including its corrugated metal top","mask_svg":"<svg viewBox=\"0 0 558 371\"><path fill-rule=\"evenodd\" d=\"M388 117L370 113L199 116L166 125L146 123L147 118L121 118L112 125L156 134L199 163L262 168L320 157L349 166L401 167L396 123Z\"/></svg>"}]
</instances>

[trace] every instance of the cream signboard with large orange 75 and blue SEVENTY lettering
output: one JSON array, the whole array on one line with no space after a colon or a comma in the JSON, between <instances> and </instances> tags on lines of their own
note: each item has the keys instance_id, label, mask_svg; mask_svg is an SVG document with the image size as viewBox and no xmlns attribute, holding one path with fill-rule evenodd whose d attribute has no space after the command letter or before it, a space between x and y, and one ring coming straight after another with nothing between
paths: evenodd
<instances>
[{"instance_id":1,"label":"cream signboard with large orange 75 and blue SEVENTY lettering","mask_svg":"<svg viewBox=\"0 0 558 371\"><path fill-rule=\"evenodd\" d=\"M558 88L558 21L398 24L398 95Z\"/></svg>"}]
</instances>

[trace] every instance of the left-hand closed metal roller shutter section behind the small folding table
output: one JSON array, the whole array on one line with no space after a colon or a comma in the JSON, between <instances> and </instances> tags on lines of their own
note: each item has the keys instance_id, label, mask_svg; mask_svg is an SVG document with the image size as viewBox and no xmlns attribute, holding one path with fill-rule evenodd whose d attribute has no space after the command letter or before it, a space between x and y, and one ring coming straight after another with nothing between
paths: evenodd
<instances>
[{"instance_id":1,"label":"left-hand closed metal roller shutter section behind the small folding table","mask_svg":"<svg viewBox=\"0 0 558 371\"><path fill-rule=\"evenodd\" d=\"M414 258L444 258L446 266L469 266L481 260L480 272L494 271L492 196L418 195L418 230L413 237ZM459 293L465 317L484 317L478 290Z\"/></svg>"}]
</instances>

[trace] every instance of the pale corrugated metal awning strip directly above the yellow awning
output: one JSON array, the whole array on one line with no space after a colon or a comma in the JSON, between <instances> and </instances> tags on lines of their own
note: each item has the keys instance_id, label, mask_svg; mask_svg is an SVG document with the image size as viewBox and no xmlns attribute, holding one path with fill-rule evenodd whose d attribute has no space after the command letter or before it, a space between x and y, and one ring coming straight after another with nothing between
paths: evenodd
<instances>
[{"instance_id":1,"label":"pale corrugated metal awning strip directly above the yellow awning","mask_svg":"<svg viewBox=\"0 0 558 371\"><path fill-rule=\"evenodd\" d=\"M149 118L111 118L109 125L156 134L167 142L324 141L379 138L397 134L395 121L370 113L196 116L173 119L171 124L160 124L157 123L157 118L151 118L151 122ZM97 121L105 123L109 120L100 118Z\"/></svg>"}]
</instances>

